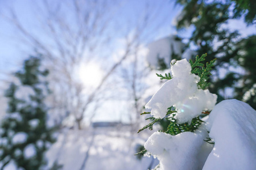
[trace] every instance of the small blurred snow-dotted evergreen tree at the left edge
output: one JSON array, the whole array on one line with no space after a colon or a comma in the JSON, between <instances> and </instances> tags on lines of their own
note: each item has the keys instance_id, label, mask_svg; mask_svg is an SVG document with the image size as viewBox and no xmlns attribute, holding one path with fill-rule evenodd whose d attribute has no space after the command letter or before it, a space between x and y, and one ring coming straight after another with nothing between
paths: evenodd
<instances>
[{"instance_id":1,"label":"small blurred snow-dotted evergreen tree at the left edge","mask_svg":"<svg viewBox=\"0 0 256 170\"><path fill-rule=\"evenodd\" d=\"M47 161L44 152L51 143L53 128L47 127L47 107L44 99L49 90L43 78L48 70L40 69L40 58L24 61L15 73L19 85L11 83L5 96L9 99L0 133L0 168L15 163L17 169L42 169Z\"/></svg>"}]
</instances>

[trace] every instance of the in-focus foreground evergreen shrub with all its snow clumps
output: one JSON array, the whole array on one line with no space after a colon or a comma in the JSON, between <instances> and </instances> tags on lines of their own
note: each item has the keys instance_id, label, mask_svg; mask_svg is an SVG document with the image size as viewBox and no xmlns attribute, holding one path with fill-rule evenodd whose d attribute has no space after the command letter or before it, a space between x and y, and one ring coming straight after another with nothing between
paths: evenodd
<instances>
[{"instance_id":1,"label":"in-focus foreground evergreen shrub with all its snow clumps","mask_svg":"<svg viewBox=\"0 0 256 170\"><path fill-rule=\"evenodd\" d=\"M255 169L256 111L237 100L214 108L217 96L206 89L214 61L204 66L205 57L172 62L171 74L157 74L168 81L146 104L151 112L142 114L151 113L152 122L139 131L162 118L170 125L152 134L141 153L159 159L156 169Z\"/></svg>"}]
</instances>

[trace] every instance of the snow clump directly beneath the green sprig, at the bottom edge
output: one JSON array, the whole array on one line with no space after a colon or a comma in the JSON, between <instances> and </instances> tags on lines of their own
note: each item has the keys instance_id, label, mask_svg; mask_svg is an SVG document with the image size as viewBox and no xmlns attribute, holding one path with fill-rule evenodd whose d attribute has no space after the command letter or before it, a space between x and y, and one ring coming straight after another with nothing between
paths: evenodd
<instances>
[{"instance_id":1,"label":"snow clump directly beneath the green sprig, at the bottom edge","mask_svg":"<svg viewBox=\"0 0 256 170\"><path fill-rule=\"evenodd\" d=\"M204 162L198 157L203 154L201 148L209 148L204 144L206 136L204 125L195 133L170 135L158 131L148 138L144 147L159 159L160 169L201 169ZM206 154L209 154L210 150L207 151Z\"/></svg>"}]
</instances>

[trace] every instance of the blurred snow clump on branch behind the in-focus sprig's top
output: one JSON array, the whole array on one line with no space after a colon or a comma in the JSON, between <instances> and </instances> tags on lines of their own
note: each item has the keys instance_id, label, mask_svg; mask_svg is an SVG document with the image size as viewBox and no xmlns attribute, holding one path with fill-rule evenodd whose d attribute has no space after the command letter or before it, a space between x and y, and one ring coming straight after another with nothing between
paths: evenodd
<instances>
[{"instance_id":1,"label":"blurred snow clump on branch behind the in-focus sprig's top","mask_svg":"<svg viewBox=\"0 0 256 170\"><path fill-rule=\"evenodd\" d=\"M183 42L176 40L174 35L154 41L148 45L147 62L153 67L158 67L158 59L162 58L168 64L172 54L181 56L183 47Z\"/></svg>"}]
</instances>

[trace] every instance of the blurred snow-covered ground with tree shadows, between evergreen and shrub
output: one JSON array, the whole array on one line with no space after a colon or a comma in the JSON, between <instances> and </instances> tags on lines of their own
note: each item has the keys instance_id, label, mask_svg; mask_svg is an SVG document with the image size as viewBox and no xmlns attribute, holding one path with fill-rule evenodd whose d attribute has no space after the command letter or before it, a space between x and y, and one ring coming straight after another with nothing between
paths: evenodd
<instances>
[{"instance_id":1,"label":"blurred snow-covered ground with tree shadows, between evergreen and shrub","mask_svg":"<svg viewBox=\"0 0 256 170\"><path fill-rule=\"evenodd\" d=\"M143 133L141 134L143 135ZM138 160L134 154L144 137L130 133L129 127L65 130L47 152L49 165L57 159L63 170L79 169L147 169L153 158ZM82 164L85 163L84 168ZM154 165L158 160L154 160Z\"/></svg>"}]
</instances>

